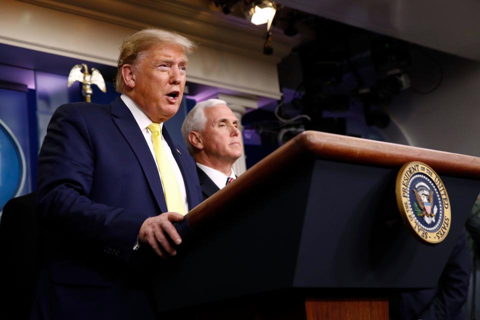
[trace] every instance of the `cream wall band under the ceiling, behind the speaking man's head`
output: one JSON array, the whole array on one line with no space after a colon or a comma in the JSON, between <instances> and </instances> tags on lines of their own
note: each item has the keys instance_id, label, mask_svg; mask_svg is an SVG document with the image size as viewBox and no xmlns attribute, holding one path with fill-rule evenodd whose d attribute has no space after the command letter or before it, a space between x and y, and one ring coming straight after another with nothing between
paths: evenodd
<instances>
[{"instance_id":1,"label":"cream wall band under the ceiling, behind the speaking man's head","mask_svg":"<svg viewBox=\"0 0 480 320\"><path fill-rule=\"evenodd\" d=\"M116 66L123 38L147 25L65 5L49 7L43 3L45 1L40 1L42 5L13 0L0 2L0 43L112 66ZM190 19L192 23L196 21L194 17ZM158 27L176 29L162 22L158 17ZM195 33L197 26L192 23L181 26ZM220 31L229 34L227 27ZM240 46L239 41L237 46ZM200 41L198 49L189 57L188 81L214 85L237 94L280 98L276 59L257 53L261 52L261 47L237 53L222 49L222 43L212 42L216 47Z\"/></svg>"}]
</instances>

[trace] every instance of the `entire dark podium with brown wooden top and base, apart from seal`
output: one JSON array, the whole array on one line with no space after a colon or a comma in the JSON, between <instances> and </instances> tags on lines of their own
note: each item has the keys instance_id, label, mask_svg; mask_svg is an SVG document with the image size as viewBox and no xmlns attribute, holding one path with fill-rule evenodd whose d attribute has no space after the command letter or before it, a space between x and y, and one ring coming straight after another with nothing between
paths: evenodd
<instances>
[{"instance_id":1,"label":"entire dark podium with brown wooden top and base, apart from seal","mask_svg":"<svg viewBox=\"0 0 480 320\"><path fill-rule=\"evenodd\" d=\"M436 245L396 204L398 170L414 160L450 199ZM479 191L480 158L305 131L188 213L157 305L190 318L387 319L391 293L436 285Z\"/></svg>"}]
</instances>

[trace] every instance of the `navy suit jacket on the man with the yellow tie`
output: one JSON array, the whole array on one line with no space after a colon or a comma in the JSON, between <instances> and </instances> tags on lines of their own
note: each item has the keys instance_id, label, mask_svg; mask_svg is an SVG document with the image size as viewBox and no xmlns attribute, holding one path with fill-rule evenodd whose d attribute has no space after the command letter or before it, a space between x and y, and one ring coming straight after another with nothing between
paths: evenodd
<instances>
[{"instance_id":1,"label":"navy suit jacket on the man with the yellow tie","mask_svg":"<svg viewBox=\"0 0 480 320\"><path fill-rule=\"evenodd\" d=\"M163 130L190 208L201 201L195 164ZM155 161L133 115L109 105L55 111L38 158L38 209L61 247L40 275L32 318L155 318L147 245L133 251L142 222L167 211Z\"/></svg>"}]
</instances>

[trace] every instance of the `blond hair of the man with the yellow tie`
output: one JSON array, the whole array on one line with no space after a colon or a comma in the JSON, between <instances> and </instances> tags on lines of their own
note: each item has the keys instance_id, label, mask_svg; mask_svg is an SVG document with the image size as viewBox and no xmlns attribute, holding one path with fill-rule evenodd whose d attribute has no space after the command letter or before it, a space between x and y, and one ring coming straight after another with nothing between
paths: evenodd
<instances>
[{"instance_id":1,"label":"blond hair of the man with the yellow tie","mask_svg":"<svg viewBox=\"0 0 480 320\"><path fill-rule=\"evenodd\" d=\"M171 31L155 28L146 28L126 37L120 46L120 55L118 56L115 85L117 92L123 92L123 79L121 68L124 64L134 64L140 53L148 50L155 44L168 42L178 44L183 49L185 57L196 47L192 40L176 34ZM141 58L141 56L140 56Z\"/></svg>"}]
</instances>

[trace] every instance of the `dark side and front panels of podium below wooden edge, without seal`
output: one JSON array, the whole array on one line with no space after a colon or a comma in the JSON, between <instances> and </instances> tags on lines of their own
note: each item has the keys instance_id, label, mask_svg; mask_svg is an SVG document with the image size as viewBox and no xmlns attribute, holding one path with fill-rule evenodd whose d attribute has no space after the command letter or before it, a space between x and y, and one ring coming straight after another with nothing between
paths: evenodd
<instances>
[{"instance_id":1,"label":"dark side and front panels of podium below wooden edge, without seal","mask_svg":"<svg viewBox=\"0 0 480 320\"><path fill-rule=\"evenodd\" d=\"M288 289L433 287L480 181L441 176L452 223L432 246L400 220L397 171L307 157L268 181L251 180L244 196L161 264L154 280L159 309Z\"/></svg>"}]
</instances>

